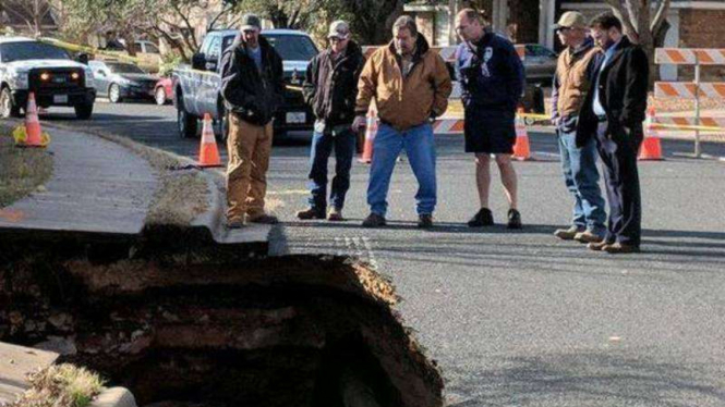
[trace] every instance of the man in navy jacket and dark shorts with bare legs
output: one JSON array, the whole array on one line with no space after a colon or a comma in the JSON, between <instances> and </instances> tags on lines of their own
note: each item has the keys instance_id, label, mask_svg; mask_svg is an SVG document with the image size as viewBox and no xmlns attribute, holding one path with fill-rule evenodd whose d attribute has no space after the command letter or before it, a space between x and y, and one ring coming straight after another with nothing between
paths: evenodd
<instances>
[{"instance_id":1,"label":"man in navy jacket and dark shorts with bare legs","mask_svg":"<svg viewBox=\"0 0 725 407\"><path fill-rule=\"evenodd\" d=\"M488 209L490 164L491 155L494 155L509 203L508 227L520 229L511 155L516 143L516 109L523 91L523 65L513 45L487 29L473 9L458 13L456 33L463 40L456 51L456 75L463 90L466 152L475 153L481 202L481 209L468 225L494 224Z\"/></svg>"}]
</instances>

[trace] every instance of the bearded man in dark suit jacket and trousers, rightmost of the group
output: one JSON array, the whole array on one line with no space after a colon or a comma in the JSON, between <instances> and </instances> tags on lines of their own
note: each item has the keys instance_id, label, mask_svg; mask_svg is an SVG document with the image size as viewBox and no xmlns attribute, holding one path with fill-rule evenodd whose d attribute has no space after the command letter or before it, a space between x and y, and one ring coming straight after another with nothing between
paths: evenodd
<instances>
[{"instance_id":1,"label":"bearded man in dark suit jacket and trousers, rightmost of the group","mask_svg":"<svg viewBox=\"0 0 725 407\"><path fill-rule=\"evenodd\" d=\"M621 34L612 13L590 24L592 38L604 52L592 60L592 83L579 114L577 146L595 137L604 163L609 201L607 234L592 250L636 252L640 248L642 203L637 152L642 143L649 63L644 51Z\"/></svg>"}]
</instances>

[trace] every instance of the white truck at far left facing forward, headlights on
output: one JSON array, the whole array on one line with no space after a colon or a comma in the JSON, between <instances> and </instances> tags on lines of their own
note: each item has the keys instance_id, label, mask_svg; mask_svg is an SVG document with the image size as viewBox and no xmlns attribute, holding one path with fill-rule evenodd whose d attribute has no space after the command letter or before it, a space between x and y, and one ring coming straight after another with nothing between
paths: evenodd
<instances>
[{"instance_id":1,"label":"white truck at far left facing forward, headlights on","mask_svg":"<svg viewBox=\"0 0 725 407\"><path fill-rule=\"evenodd\" d=\"M35 39L0 37L0 116L20 116L32 91L39 108L72 106L78 119L90 119L96 89L85 61Z\"/></svg>"}]
</instances>

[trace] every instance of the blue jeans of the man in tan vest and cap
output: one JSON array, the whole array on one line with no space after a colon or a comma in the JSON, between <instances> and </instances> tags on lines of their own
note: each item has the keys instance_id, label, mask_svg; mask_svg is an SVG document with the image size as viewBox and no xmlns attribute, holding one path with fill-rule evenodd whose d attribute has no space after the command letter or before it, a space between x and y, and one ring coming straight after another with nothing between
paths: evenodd
<instances>
[{"instance_id":1,"label":"blue jeans of the man in tan vest and cap","mask_svg":"<svg viewBox=\"0 0 725 407\"><path fill-rule=\"evenodd\" d=\"M576 123L575 123L576 124ZM596 169L596 144L591 139L583 148L577 148L577 131L557 130L561 169L567 188L573 196L572 224L590 230L597 236L606 234L604 198L600 190L600 173Z\"/></svg>"}]
</instances>

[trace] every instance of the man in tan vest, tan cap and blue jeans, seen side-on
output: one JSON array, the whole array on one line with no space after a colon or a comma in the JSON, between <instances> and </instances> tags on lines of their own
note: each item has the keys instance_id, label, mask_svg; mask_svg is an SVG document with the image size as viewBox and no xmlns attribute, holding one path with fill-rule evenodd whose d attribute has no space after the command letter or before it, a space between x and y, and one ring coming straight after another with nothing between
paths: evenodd
<instances>
[{"instance_id":1,"label":"man in tan vest, tan cap and blue jeans, seen side-on","mask_svg":"<svg viewBox=\"0 0 725 407\"><path fill-rule=\"evenodd\" d=\"M564 240L601 242L606 233L606 214L599 186L596 146L593 138L582 148L576 143L579 110L591 88L587 69L601 50L587 36L587 21L579 12L564 13L554 29L567 48L559 55L554 77L552 120L559 139L564 180L575 198L571 225L554 235Z\"/></svg>"}]
</instances>

